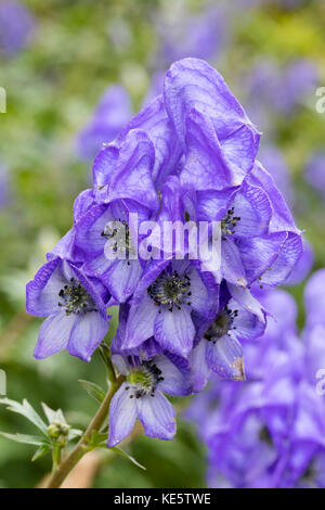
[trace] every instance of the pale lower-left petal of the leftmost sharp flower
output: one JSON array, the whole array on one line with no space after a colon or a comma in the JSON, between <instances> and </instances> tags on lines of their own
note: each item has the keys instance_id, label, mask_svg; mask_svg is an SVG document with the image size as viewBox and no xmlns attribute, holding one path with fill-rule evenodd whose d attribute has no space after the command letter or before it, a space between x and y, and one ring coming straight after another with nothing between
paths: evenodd
<instances>
[{"instance_id":1,"label":"pale lower-left petal of the leftmost sharp flower","mask_svg":"<svg viewBox=\"0 0 325 510\"><path fill-rule=\"evenodd\" d=\"M34 356L37 359L47 358L67 347L76 316L67 316L65 311L48 317L40 327Z\"/></svg>"}]
</instances>

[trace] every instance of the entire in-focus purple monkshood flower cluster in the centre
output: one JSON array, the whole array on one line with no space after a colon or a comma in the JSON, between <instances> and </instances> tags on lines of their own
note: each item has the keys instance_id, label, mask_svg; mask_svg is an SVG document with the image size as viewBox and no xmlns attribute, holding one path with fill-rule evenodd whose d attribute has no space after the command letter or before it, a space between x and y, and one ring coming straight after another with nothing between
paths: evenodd
<instances>
[{"instance_id":1,"label":"entire in-focus purple monkshood flower cluster in the centre","mask_svg":"<svg viewBox=\"0 0 325 510\"><path fill-rule=\"evenodd\" d=\"M119 306L110 349L125 383L110 404L108 446L136 417L147 435L173 437L164 393L200 392L212 372L245 378L240 341L261 335L266 316L250 286L285 281L302 250L257 161L259 139L216 69L174 63L164 94L96 155L72 229L27 285L27 310L48 316L37 358L66 348L90 360L108 331L107 308ZM191 227L183 252L173 238L161 248L160 227L170 222L176 237ZM208 227L194 256L190 234L200 222Z\"/></svg>"}]
</instances>

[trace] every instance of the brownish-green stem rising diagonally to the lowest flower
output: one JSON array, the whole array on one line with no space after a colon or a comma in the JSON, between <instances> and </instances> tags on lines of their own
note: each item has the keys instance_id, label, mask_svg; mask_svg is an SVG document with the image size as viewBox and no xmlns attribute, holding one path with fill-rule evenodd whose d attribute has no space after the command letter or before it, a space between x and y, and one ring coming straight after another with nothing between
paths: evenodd
<instances>
[{"instance_id":1,"label":"brownish-green stem rising diagonally to the lowest flower","mask_svg":"<svg viewBox=\"0 0 325 510\"><path fill-rule=\"evenodd\" d=\"M94 431L100 431L103 423L105 422L110 400L114 394L117 392L121 383L123 382L125 378L119 375L117 379L114 374L114 378L110 380L109 390L106 393L104 400L101 404L98 412L91 420L90 424L88 425L87 431L84 432L83 436L77 443L75 448L70 451L70 454L62 461L55 472L52 474L47 488L60 488L66 476L69 472L75 468L75 466L79 462L79 460L83 457L84 454L89 451L89 444L88 439L91 438L91 435Z\"/></svg>"}]
</instances>

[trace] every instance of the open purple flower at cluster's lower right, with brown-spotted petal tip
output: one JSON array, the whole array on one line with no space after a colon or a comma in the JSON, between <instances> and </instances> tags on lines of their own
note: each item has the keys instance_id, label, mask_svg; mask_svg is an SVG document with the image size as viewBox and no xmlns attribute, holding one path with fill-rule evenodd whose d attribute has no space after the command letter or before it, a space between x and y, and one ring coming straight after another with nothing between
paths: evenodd
<instances>
[{"instance_id":1,"label":"open purple flower at cluster's lower right, with brown-spotted petal tip","mask_svg":"<svg viewBox=\"0 0 325 510\"><path fill-rule=\"evenodd\" d=\"M225 285L221 286L219 304L220 309L212 321L202 318L197 320L199 341L188 358L193 392L200 392L204 388L211 371L221 379L244 380L244 354L240 341L255 340L261 336L265 329L263 309L261 308L256 315L243 308L231 297Z\"/></svg>"}]
</instances>

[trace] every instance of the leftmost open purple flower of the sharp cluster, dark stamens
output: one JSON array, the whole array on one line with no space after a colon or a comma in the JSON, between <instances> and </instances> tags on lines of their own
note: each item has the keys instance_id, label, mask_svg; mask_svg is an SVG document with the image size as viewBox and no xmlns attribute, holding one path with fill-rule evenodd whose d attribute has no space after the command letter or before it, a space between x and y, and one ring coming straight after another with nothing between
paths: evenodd
<instances>
[{"instance_id":1,"label":"leftmost open purple flower of the sharp cluster, dark stamens","mask_svg":"<svg viewBox=\"0 0 325 510\"><path fill-rule=\"evenodd\" d=\"M99 282L60 257L52 258L27 284L28 314L46 317L35 357L38 359L67 349L89 361L108 331L108 295Z\"/></svg>"}]
</instances>

